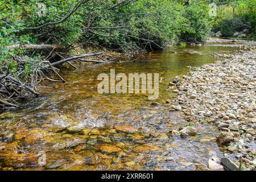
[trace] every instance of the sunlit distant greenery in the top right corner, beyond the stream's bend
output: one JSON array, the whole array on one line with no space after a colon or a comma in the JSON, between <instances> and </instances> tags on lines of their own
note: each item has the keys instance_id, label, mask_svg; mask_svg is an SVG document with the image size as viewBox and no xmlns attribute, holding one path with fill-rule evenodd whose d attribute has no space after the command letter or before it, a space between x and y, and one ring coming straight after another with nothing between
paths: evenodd
<instances>
[{"instance_id":1,"label":"sunlit distant greenery in the top right corner, beyond the stream's bend","mask_svg":"<svg viewBox=\"0 0 256 182\"><path fill-rule=\"evenodd\" d=\"M255 0L219 0L216 3L218 7L213 23L214 32L220 31L222 37L255 39Z\"/></svg>"}]
</instances>

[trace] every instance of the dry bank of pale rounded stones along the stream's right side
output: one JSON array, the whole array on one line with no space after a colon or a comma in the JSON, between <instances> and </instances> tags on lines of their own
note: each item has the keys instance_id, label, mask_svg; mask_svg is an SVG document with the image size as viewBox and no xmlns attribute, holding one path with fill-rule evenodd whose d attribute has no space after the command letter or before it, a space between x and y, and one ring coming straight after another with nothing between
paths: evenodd
<instances>
[{"instance_id":1,"label":"dry bank of pale rounded stones along the stream's right side","mask_svg":"<svg viewBox=\"0 0 256 182\"><path fill-rule=\"evenodd\" d=\"M194 68L170 83L178 94L175 101L179 104L174 108L185 114L190 126L208 122L218 127L217 143L225 158L220 162L213 155L209 167L221 169L221 163L229 169L240 166L253 170L256 164L255 47L234 55L214 56L222 59Z\"/></svg>"}]
</instances>

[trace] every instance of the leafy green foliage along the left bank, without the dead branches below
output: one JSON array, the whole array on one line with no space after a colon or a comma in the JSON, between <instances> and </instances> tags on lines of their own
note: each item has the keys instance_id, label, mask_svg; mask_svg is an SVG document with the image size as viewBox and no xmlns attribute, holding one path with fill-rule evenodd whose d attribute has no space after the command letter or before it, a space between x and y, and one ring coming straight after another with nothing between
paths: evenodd
<instances>
[{"instance_id":1,"label":"leafy green foliage along the left bank, without the dead branches below","mask_svg":"<svg viewBox=\"0 0 256 182\"><path fill-rule=\"evenodd\" d=\"M14 57L39 59L41 53L20 49L12 44L96 44L125 52L162 49L180 40L202 42L209 33L211 19L204 0L127 1L113 9L118 0L2 0L0 2L0 71L33 72L32 63L18 64ZM40 16L38 3L46 5ZM70 16L69 16L70 15ZM67 17L60 22L61 19ZM58 23L55 23L58 22ZM48 23L48 24L46 24ZM38 27L46 24L39 28Z\"/></svg>"}]
</instances>

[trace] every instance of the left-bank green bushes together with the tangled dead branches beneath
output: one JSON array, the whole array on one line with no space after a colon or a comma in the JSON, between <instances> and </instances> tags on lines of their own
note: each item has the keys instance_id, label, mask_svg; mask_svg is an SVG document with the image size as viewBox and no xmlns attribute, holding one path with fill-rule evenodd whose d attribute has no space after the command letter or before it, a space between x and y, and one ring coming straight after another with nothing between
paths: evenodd
<instances>
[{"instance_id":1,"label":"left-bank green bushes together with the tangled dead branches beneath","mask_svg":"<svg viewBox=\"0 0 256 182\"><path fill-rule=\"evenodd\" d=\"M37 95L38 80L49 73L64 82L56 71L63 63L97 63L98 56L99 62L105 61L98 53L72 56L77 47L134 55L180 41L204 42L212 21L203 0L4 0L0 9L1 107ZM56 61L59 64L51 65Z\"/></svg>"}]
</instances>

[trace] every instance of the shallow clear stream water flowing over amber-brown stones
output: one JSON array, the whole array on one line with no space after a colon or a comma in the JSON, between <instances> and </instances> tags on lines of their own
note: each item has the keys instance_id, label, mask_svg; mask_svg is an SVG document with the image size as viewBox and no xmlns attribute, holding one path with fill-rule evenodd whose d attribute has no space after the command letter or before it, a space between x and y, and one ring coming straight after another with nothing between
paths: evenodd
<instances>
[{"instance_id":1,"label":"shallow clear stream water flowing over amber-brown stones","mask_svg":"<svg viewBox=\"0 0 256 182\"><path fill-rule=\"evenodd\" d=\"M171 137L168 132L186 126L187 121L166 104L176 97L168 83L189 67L213 63L216 58L210 55L214 53L239 50L237 44L170 48L149 52L135 63L65 69L61 75L67 83L48 83L42 97L0 115L0 169L195 170L201 164L207 166L210 151L221 154L212 139L217 129L199 121L195 124L199 135ZM110 68L127 76L159 73L159 98L150 101L148 94L98 93L97 76L109 74ZM126 125L138 131L113 128ZM83 130L70 133L65 130L69 126ZM40 165L44 154L46 165Z\"/></svg>"}]
</instances>

